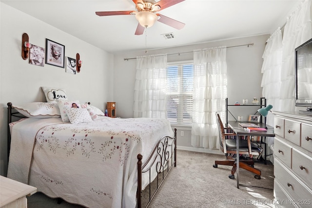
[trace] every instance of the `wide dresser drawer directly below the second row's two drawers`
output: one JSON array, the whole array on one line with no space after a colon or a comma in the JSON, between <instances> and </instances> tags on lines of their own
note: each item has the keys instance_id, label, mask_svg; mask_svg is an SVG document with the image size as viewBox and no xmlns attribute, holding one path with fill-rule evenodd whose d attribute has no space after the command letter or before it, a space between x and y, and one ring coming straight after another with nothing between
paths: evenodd
<instances>
[{"instance_id":1,"label":"wide dresser drawer directly below the second row's two drawers","mask_svg":"<svg viewBox=\"0 0 312 208\"><path fill-rule=\"evenodd\" d=\"M277 180L281 188L288 193L293 200L292 202L296 203L298 207L311 208L311 201L309 202L308 200L311 200L312 193L303 187L278 161L275 160L275 162L274 172L277 171L280 174L275 176L274 180Z\"/></svg>"}]
</instances>

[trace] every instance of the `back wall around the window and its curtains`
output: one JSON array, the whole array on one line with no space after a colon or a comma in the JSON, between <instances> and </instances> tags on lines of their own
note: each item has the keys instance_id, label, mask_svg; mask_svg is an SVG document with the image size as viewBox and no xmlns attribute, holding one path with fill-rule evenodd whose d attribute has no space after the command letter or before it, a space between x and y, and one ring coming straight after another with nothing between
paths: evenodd
<instances>
[{"instance_id":1,"label":"back wall around the window and its curtains","mask_svg":"<svg viewBox=\"0 0 312 208\"><path fill-rule=\"evenodd\" d=\"M266 40L270 35L261 35L246 38L229 39L215 42L207 42L202 44L194 44L175 48L167 48L161 50L151 50L148 53L127 52L117 54L114 57L114 101L116 101L117 116L123 118L133 117L133 102L134 102L134 84L136 74L136 59L124 60L124 58L133 58L144 55L154 54L176 54L169 55L168 61L191 60L193 52L196 49L204 49L218 46L236 46L248 43L254 43L253 46L240 46L227 48L226 60L228 67L228 98L229 104L234 104L235 101L242 103L243 99L252 101L253 97L262 96L261 85L261 67L262 55L265 49ZM168 40L170 41L170 40ZM142 43L144 44L144 43ZM224 106L225 108L225 106ZM230 109L234 116L243 115L248 119L249 114L254 114L258 107L246 107ZM229 120L234 118L229 114ZM190 128L176 127L178 129L177 146L179 149L192 151L207 151L202 148L193 148L191 146ZM180 131L184 131L184 136L180 136Z\"/></svg>"}]
</instances>

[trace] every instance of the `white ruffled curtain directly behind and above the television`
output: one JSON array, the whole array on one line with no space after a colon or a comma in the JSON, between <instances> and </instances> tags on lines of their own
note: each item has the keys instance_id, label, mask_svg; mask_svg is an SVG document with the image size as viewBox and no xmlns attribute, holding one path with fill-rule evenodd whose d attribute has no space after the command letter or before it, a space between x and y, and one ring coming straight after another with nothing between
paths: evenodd
<instances>
[{"instance_id":1,"label":"white ruffled curtain directly behind and above the television","mask_svg":"<svg viewBox=\"0 0 312 208\"><path fill-rule=\"evenodd\" d=\"M311 0L305 0L285 25L280 90L282 111L294 110L294 49L312 37L311 10Z\"/></svg>"}]
</instances>

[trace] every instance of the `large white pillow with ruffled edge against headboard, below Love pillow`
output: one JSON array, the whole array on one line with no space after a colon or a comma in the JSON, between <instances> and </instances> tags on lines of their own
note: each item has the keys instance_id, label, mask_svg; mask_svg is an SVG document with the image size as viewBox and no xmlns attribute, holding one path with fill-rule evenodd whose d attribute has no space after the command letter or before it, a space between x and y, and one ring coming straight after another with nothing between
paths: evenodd
<instances>
[{"instance_id":1,"label":"large white pillow with ruffled edge against headboard, below Love pillow","mask_svg":"<svg viewBox=\"0 0 312 208\"><path fill-rule=\"evenodd\" d=\"M60 117L59 106L56 103L33 102L13 107L26 117L33 118L58 118Z\"/></svg>"}]
</instances>

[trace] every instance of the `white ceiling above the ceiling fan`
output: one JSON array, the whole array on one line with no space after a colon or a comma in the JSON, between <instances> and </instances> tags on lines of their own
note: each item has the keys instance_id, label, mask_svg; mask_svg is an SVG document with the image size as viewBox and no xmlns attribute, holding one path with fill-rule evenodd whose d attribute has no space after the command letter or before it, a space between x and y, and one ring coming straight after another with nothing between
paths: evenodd
<instances>
[{"instance_id":1,"label":"white ceiling above the ceiling fan","mask_svg":"<svg viewBox=\"0 0 312 208\"><path fill-rule=\"evenodd\" d=\"M1 0L107 52L167 48L271 34L282 27L299 0L185 0L158 13L185 23L176 30L161 22L136 36L135 15L99 17L97 11L135 10L132 0ZM158 0L157 0L158 1ZM165 39L161 34L173 33Z\"/></svg>"}]
</instances>

